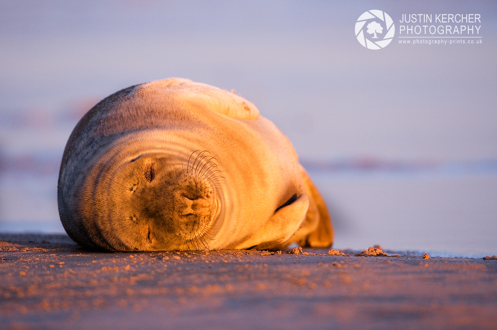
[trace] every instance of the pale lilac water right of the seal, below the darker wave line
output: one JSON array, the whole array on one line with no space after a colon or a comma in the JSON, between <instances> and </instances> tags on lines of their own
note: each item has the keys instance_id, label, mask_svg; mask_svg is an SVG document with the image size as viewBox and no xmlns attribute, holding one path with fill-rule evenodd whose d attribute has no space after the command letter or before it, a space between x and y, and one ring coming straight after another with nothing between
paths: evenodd
<instances>
[{"instance_id":1,"label":"pale lilac water right of the seal, below the darker wave line","mask_svg":"<svg viewBox=\"0 0 497 330\"><path fill-rule=\"evenodd\" d=\"M330 209L336 247L378 244L444 255L497 250L497 172L311 176Z\"/></svg>"}]
</instances>

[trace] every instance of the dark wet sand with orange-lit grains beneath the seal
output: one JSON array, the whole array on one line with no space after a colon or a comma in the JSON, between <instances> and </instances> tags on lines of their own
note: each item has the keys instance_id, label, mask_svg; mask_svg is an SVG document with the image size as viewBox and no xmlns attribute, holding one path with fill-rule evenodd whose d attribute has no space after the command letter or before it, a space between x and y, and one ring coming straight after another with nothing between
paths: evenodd
<instances>
[{"instance_id":1,"label":"dark wet sand with orange-lit grains beneath the seal","mask_svg":"<svg viewBox=\"0 0 497 330\"><path fill-rule=\"evenodd\" d=\"M497 260L304 251L102 253L0 234L0 328L497 329Z\"/></svg>"}]
</instances>

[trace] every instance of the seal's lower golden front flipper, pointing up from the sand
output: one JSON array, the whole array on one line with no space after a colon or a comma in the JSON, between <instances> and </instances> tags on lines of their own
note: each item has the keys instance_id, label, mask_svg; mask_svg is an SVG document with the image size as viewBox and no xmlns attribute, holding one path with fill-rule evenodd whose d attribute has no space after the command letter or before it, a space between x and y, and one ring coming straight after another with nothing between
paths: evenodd
<instances>
[{"instance_id":1,"label":"seal's lower golden front flipper, pointing up from the sand","mask_svg":"<svg viewBox=\"0 0 497 330\"><path fill-rule=\"evenodd\" d=\"M281 246L299 228L309 207L309 197L302 194L290 205L279 208L243 248L271 249Z\"/></svg>"}]
</instances>

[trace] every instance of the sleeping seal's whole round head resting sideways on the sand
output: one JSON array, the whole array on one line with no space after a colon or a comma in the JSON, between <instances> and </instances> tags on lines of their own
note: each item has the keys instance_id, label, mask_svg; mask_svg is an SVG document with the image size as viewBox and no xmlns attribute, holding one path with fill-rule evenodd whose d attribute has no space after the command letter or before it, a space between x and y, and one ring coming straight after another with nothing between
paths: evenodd
<instances>
[{"instance_id":1,"label":"sleeping seal's whole round head resting sideways on the sand","mask_svg":"<svg viewBox=\"0 0 497 330\"><path fill-rule=\"evenodd\" d=\"M181 158L154 152L102 163L93 168L82 191L83 200L99 202L81 203L84 223L98 246L142 251L209 248L223 184L209 152Z\"/></svg>"}]
</instances>

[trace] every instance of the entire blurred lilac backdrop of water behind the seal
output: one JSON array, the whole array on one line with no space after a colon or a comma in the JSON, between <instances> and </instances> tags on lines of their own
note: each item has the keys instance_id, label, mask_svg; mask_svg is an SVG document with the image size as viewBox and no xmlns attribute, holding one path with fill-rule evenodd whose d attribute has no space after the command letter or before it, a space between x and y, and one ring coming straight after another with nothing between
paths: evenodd
<instances>
[{"instance_id":1,"label":"entire blurred lilac backdrop of water behind the seal","mask_svg":"<svg viewBox=\"0 0 497 330\"><path fill-rule=\"evenodd\" d=\"M480 13L483 44L370 51L364 11ZM0 231L60 232L77 121L129 85L236 89L292 141L337 248L496 254L494 1L3 1ZM397 35L398 36L398 35Z\"/></svg>"}]
</instances>

